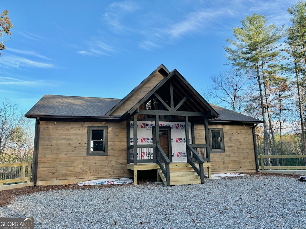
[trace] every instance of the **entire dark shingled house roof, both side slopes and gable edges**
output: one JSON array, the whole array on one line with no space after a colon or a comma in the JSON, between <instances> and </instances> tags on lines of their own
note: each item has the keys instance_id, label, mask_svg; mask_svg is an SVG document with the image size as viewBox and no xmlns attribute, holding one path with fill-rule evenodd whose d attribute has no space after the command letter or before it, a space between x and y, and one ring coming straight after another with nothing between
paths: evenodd
<instances>
[{"instance_id":1,"label":"entire dark shingled house roof, both side slopes and gable edges","mask_svg":"<svg viewBox=\"0 0 306 229\"><path fill-rule=\"evenodd\" d=\"M262 123L261 120L242 115L235 111L230 111L226 108L219 107L213 104L208 104L206 100L186 81L186 79L174 69L171 73L160 65L153 71L143 82L133 89L124 99L96 98L96 97L81 97L81 96L58 96L45 95L43 96L24 116L27 118L45 117L45 118L102 118L102 119L121 119L122 115L111 115L121 104L144 85L155 73L163 75L163 79L151 89L142 99L138 100L129 111L136 110L141 103L152 96L159 89L166 85L166 82L171 78L178 79L180 86L188 90L189 95L200 106L205 107L206 111L211 112L212 117L209 122L249 122ZM198 106L198 104L196 104Z\"/></svg>"}]
</instances>

